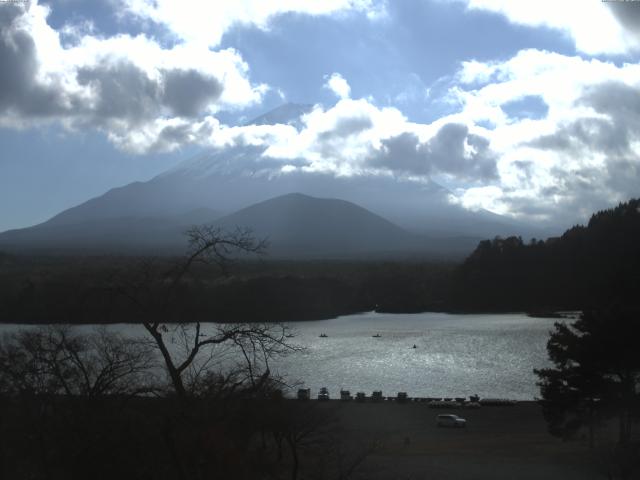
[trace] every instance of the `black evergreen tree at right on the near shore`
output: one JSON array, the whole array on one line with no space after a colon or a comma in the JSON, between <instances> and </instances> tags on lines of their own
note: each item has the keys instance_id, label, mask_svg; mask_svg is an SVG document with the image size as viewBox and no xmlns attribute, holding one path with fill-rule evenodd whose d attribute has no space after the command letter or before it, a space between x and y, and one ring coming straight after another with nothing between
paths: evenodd
<instances>
[{"instance_id":1,"label":"black evergreen tree at right on the near shore","mask_svg":"<svg viewBox=\"0 0 640 480\"><path fill-rule=\"evenodd\" d=\"M618 443L632 440L640 393L640 312L613 308L584 312L573 324L556 323L547 344L553 368L535 370L551 433L570 437L617 416Z\"/></svg>"}]
</instances>

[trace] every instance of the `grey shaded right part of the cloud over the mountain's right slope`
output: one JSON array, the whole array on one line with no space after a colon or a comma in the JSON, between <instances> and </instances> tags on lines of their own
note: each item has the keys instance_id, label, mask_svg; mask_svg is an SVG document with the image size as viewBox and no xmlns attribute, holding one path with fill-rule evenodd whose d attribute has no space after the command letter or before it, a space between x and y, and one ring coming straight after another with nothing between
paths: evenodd
<instances>
[{"instance_id":1,"label":"grey shaded right part of the cloud over the mountain's right slope","mask_svg":"<svg viewBox=\"0 0 640 480\"><path fill-rule=\"evenodd\" d=\"M446 173L460 179L487 181L498 177L496 156L489 141L469 133L465 125L449 123L427 143L413 133L402 133L382 142L372 159L375 166L417 175ZM466 152L466 146L471 147Z\"/></svg>"}]
</instances>

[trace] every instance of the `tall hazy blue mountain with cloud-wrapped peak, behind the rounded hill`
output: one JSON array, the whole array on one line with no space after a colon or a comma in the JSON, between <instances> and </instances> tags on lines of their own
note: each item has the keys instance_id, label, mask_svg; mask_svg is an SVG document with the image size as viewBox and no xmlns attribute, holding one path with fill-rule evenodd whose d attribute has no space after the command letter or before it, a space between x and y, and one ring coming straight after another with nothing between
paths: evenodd
<instances>
[{"instance_id":1,"label":"tall hazy blue mountain with cloud-wrapped peak, behind the rounded hill","mask_svg":"<svg viewBox=\"0 0 640 480\"><path fill-rule=\"evenodd\" d=\"M295 126L310 108L285 104L250 123ZM12 245L49 244L56 248L114 242L124 245L127 238L142 239L148 236L145 232L154 231L157 238L138 243L168 248L181 241L179 232L185 225L211 221L291 192L355 203L405 230L440 238L443 246L451 237L541 236L504 217L486 211L471 212L452 204L450 192L433 181L415 182L384 175L284 173L280 170L283 163L264 157L264 152L264 147L250 145L205 151L149 181L114 188L40 225L6 232L0 236L0 246L8 240ZM202 221L176 220L201 208L217 213Z\"/></svg>"}]
</instances>

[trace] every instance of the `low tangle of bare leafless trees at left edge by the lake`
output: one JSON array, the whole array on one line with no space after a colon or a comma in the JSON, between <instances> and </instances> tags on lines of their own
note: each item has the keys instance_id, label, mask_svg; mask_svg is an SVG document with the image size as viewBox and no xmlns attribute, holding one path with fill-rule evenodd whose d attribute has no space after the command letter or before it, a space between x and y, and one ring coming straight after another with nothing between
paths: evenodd
<instances>
[{"instance_id":1,"label":"low tangle of bare leafless trees at left edge by the lake","mask_svg":"<svg viewBox=\"0 0 640 480\"><path fill-rule=\"evenodd\" d=\"M21 330L0 342L0 388L10 395L131 395L149 390L153 358L144 344L105 328Z\"/></svg>"}]
</instances>

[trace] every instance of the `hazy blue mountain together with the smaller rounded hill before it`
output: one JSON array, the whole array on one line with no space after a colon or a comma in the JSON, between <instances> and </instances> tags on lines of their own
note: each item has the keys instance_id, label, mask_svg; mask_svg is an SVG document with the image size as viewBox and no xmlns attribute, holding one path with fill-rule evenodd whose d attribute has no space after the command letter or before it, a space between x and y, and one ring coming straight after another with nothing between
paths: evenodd
<instances>
[{"instance_id":1,"label":"hazy blue mountain together with the smaller rounded hill before it","mask_svg":"<svg viewBox=\"0 0 640 480\"><path fill-rule=\"evenodd\" d=\"M294 125L310 108L285 104L250 124ZM114 188L40 225L5 232L0 246L175 250L184 246L181 232L189 225L210 223L224 215L229 215L221 220L225 226L247 226L270 236L279 254L415 252L425 249L426 244L420 246L417 241L420 234L431 238L427 250L460 255L471 251L480 238L539 235L490 212L471 212L450 203L449 192L433 181L287 173L275 168L282 162L265 157L264 152L263 147L251 145L206 151L147 182ZM288 195L293 192L302 195ZM323 203L309 196L337 200ZM275 197L281 198L266 201ZM253 205L258 202L264 203ZM314 223L323 216L331 221ZM359 237L355 225L366 226L360 233L370 234ZM436 238L441 239L437 248ZM449 238L467 240L442 241Z\"/></svg>"}]
</instances>

